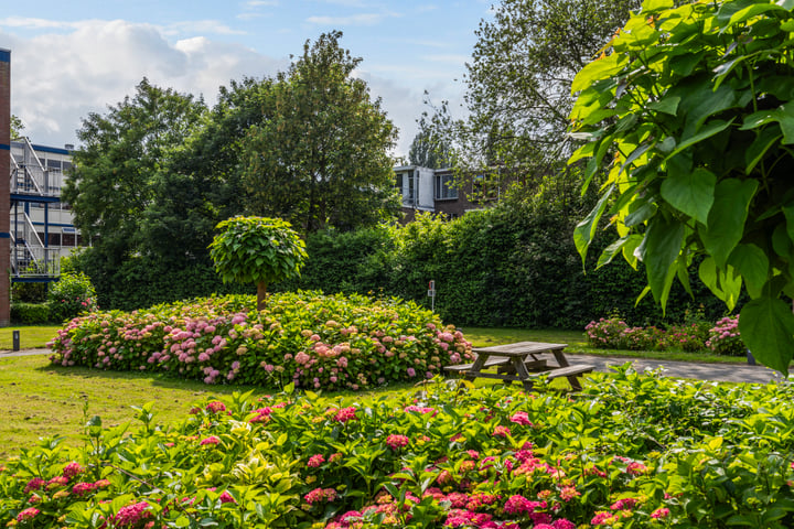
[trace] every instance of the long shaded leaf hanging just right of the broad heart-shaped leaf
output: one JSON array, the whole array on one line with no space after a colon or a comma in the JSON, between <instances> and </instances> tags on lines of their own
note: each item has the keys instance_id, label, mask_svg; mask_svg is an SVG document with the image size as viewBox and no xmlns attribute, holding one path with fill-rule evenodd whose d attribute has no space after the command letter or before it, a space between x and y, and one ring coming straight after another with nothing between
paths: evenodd
<instances>
[{"instance_id":1,"label":"long shaded leaf hanging just right of the broad heart-shaped leaf","mask_svg":"<svg viewBox=\"0 0 794 529\"><path fill-rule=\"evenodd\" d=\"M750 201L758 188L758 181L726 179L715 188L715 201L708 215L708 226L699 233L706 251L715 258L718 268L725 268L728 256L744 233Z\"/></svg>"}]
</instances>

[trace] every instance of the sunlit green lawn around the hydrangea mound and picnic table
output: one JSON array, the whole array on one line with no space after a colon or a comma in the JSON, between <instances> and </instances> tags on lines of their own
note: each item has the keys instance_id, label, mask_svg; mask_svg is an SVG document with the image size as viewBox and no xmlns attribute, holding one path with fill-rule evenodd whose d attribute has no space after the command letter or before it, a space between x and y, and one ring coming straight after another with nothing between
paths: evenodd
<instances>
[{"instance_id":1,"label":"sunlit green lawn around the hydrangea mound and picnic table","mask_svg":"<svg viewBox=\"0 0 794 529\"><path fill-rule=\"evenodd\" d=\"M21 330L23 348L44 347L55 336L56 326L17 327ZM0 328L0 348L11 348L13 327ZM718 357L709 354L676 352L627 352L587 347L578 331L525 331L513 328L463 330L475 346L512 342L550 342L569 344L568 352L605 356L657 358L690 361L745 361L744 358ZM478 386L494 384L478 380ZM223 397L251 388L206 386L198 381L170 379L160 375L99 371L87 368L63 368L50 365L46 355L0 357L0 460L35 444L42 436L66 436L66 443L78 445L79 433L87 418L99 415L105 425L133 420L131 406L154 401L155 422L169 424L185 418L191 406L205 398ZM384 393L408 391L410 385L391 386L363 393L335 393L345 401L366 400ZM272 392L256 388L255 395Z\"/></svg>"}]
</instances>

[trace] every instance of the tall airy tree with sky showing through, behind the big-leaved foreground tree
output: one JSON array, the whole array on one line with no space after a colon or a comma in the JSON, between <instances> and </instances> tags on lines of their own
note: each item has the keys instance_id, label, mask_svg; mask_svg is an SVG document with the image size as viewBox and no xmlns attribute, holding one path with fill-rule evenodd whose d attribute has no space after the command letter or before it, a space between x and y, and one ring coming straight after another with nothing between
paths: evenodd
<instances>
[{"instance_id":1,"label":"tall airy tree with sky showing through, behind the big-leaved foreground tree","mask_svg":"<svg viewBox=\"0 0 794 529\"><path fill-rule=\"evenodd\" d=\"M573 76L639 0L503 0L468 65L470 117L457 128L463 174L503 166L532 182L565 166Z\"/></svg>"}]
</instances>

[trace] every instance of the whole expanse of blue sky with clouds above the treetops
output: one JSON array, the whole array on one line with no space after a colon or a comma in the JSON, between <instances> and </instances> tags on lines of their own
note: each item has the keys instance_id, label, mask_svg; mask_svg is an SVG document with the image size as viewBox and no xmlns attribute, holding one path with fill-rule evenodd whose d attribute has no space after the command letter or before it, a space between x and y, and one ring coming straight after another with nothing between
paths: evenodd
<instances>
[{"instance_id":1,"label":"whole expanse of blue sky with clouds above the treetops","mask_svg":"<svg viewBox=\"0 0 794 529\"><path fill-rule=\"evenodd\" d=\"M307 40L341 30L342 45L364 60L356 75L400 129L395 153L406 154L425 90L460 108L464 64L492 1L3 3L0 47L11 50L11 111L35 143L76 143L81 118L105 111L143 76L214 102L221 85L287 69Z\"/></svg>"}]
</instances>

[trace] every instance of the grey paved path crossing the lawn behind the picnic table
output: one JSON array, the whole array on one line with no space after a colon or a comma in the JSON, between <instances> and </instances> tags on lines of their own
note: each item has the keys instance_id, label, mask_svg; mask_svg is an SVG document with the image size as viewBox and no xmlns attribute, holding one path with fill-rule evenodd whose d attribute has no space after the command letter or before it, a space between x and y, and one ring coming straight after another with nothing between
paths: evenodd
<instances>
[{"instance_id":1,"label":"grey paved path crossing the lawn behind the picnic table","mask_svg":"<svg viewBox=\"0 0 794 529\"><path fill-rule=\"evenodd\" d=\"M46 355L50 349L24 349L24 350L0 350L0 358L9 356ZM664 368L664 374L669 377L694 378L700 380L718 380L729 382L755 382L766 384L773 380L782 380L783 376L764 366L748 366L747 364L697 364L694 361L673 360L646 360L641 358L627 358L619 356L591 356L591 355L566 355L571 364L590 364L596 366L597 371L610 371L609 367L620 366L626 361L634 364L637 371L645 369ZM554 359L551 360L554 363Z\"/></svg>"}]
</instances>

